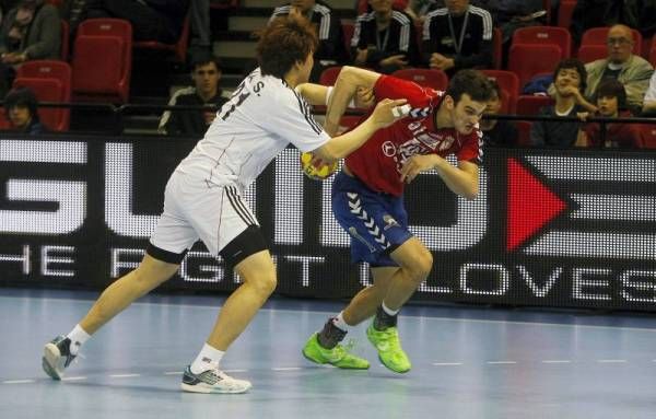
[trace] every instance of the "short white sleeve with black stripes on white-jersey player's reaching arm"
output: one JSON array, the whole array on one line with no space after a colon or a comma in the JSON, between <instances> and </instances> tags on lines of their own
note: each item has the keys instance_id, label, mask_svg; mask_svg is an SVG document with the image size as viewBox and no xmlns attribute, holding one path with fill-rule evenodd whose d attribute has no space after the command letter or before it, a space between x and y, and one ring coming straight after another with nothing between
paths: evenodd
<instances>
[{"instance_id":1,"label":"short white sleeve with black stripes on white-jersey player's reaching arm","mask_svg":"<svg viewBox=\"0 0 656 419\"><path fill-rule=\"evenodd\" d=\"M261 124L266 130L284 138L303 152L316 150L330 140L330 136L314 120L312 107L292 90L281 93L276 108L262 116Z\"/></svg>"}]
</instances>

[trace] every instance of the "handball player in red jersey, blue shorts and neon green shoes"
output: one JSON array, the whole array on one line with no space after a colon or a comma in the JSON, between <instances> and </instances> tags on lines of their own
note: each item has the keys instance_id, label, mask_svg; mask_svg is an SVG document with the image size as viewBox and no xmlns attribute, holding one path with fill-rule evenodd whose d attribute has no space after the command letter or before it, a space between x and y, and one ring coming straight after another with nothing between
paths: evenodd
<instances>
[{"instance_id":1,"label":"handball player in red jersey, blue shorts and neon green shoes","mask_svg":"<svg viewBox=\"0 0 656 419\"><path fill-rule=\"evenodd\" d=\"M407 97L408 118L378 130L345 159L332 184L332 212L351 235L354 263L371 266L373 286L360 291L344 311L309 337L303 354L316 363L367 369L367 360L339 342L351 326L374 316L366 329L383 364L405 373L411 369L397 330L397 314L429 276L433 256L409 230L403 208L405 184L421 172L436 170L455 194L475 199L479 186L482 135L478 123L492 96L487 77L462 70L446 92L373 71L344 67L330 92L325 128L335 132L356 89L373 90L375 98ZM455 154L458 164L445 156Z\"/></svg>"}]
</instances>

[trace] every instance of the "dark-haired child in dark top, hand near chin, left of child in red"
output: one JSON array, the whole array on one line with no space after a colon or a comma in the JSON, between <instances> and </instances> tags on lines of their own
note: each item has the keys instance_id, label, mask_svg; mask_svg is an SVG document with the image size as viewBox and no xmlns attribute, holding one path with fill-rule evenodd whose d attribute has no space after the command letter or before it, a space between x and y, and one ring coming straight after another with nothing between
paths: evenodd
<instances>
[{"instance_id":1,"label":"dark-haired child in dark top, hand near chin, left of child in red","mask_svg":"<svg viewBox=\"0 0 656 419\"><path fill-rule=\"evenodd\" d=\"M540 116L575 117L585 110L596 110L583 96L587 72L576 58L565 58L553 71L555 105L540 109ZM530 127L534 146L567 148L581 146L578 124L575 121L537 120Z\"/></svg>"}]
</instances>

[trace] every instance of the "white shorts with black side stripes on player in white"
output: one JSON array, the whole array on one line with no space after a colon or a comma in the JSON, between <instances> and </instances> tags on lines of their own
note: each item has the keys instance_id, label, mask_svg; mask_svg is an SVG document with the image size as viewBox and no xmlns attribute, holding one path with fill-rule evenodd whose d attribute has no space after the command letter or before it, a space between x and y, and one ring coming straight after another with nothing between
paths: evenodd
<instances>
[{"instance_id":1,"label":"white shorts with black side stripes on player in white","mask_svg":"<svg viewBox=\"0 0 656 419\"><path fill-rule=\"evenodd\" d=\"M164 211L150 242L180 255L200 238L212 255L219 255L249 225L259 223L235 186L218 186L175 172L166 184Z\"/></svg>"}]
</instances>

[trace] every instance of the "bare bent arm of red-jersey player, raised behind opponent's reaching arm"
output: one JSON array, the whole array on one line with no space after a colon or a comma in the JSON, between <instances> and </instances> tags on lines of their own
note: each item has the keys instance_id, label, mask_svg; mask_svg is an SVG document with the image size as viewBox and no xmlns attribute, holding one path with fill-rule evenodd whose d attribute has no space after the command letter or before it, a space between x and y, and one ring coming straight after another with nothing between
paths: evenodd
<instances>
[{"instance_id":1,"label":"bare bent arm of red-jersey player, raised behind opponent's reaching arm","mask_svg":"<svg viewBox=\"0 0 656 419\"><path fill-rule=\"evenodd\" d=\"M358 88L372 89L378 78L380 78L380 74L374 71L350 66L342 67L328 101L328 112L324 124L326 132L330 136L337 133L339 121L355 95Z\"/></svg>"}]
</instances>

